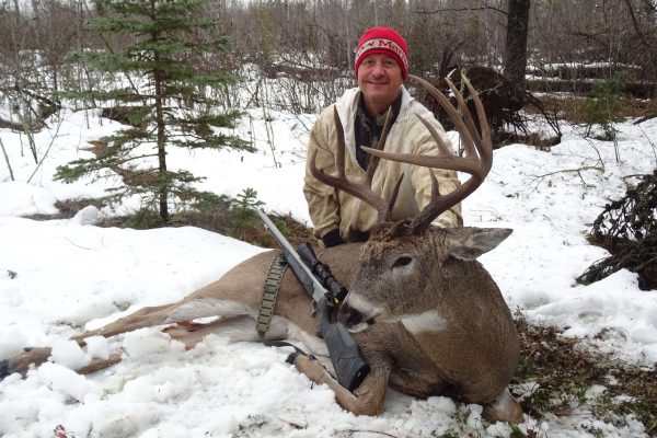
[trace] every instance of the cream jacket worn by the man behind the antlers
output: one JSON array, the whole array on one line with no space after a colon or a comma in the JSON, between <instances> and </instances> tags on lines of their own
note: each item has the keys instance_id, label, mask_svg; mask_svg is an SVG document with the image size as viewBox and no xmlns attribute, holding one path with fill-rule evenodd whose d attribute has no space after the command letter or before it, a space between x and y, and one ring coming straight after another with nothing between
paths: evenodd
<instances>
[{"instance_id":1,"label":"cream jacket worn by the man behind the antlers","mask_svg":"<svg viewBox=\"0 0 657 438\"><path fill-rule=\"evenodd\" d=\"M337 174L335 170L335 151L337 149L337 135L333 120L333 108L337 107L339 119L344 126L346 175L350 181L362 182L366 172L356 161L356 145L354 123L359 99L359 89L350 89L334 104L325 108L315 122L310 132L308 146L308 159L312 151L316 151L315 165L327 174ZM442 126L434 115L419 102L415 101L405 88L402 87L402 105L400 114L390 129L384 150L391 152L410 152L416 154L436 154L437 146L427 128L419 122L415 114L436 126L436 130L449 145ZM359 204L362 204L356 229L369 231L377 222L377 211L369 205L361 203L351 195L328 187L315 180L306 165L306 177L303 194L308 201L310 218L314 226L314 235L321 239L328 231L338 229L342 239L347 242L349 227L354 216L358 212ZM460 185L453 171L434 170L438 180L441 194L452 192ZM392 211L392 219L400 220L416 216L431 197L431 181L429 170L412 164L381 160L372 180L372 189L384 199L389 199L401 174L404 174L402 186ZM434 220L439 227L460 227L463 223L460 205L453 206Z\"/></svg>"}]
</instances>

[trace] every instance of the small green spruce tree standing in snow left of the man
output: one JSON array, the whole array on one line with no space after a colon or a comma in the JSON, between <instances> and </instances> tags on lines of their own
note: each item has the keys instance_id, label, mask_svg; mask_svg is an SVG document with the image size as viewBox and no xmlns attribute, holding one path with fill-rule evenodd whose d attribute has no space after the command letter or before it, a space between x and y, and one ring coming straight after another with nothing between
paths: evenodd
<instances>
[{"instance_id":1,"label":"small green spruce tree standing in snow left of the man","mask_svg":"<svg viewBox=\"0 0 657 438\"><path fill-rule=\"evenodd\" d=\"M59 166L55 177L72 182L88 174L108 176L103 171L112 170L124 185L113 189L111 200L141 195L145 207L168 221L172 203L189 206L215 197L193 187L200 177L168 168L166 148L253 150L215 129L231 127L240 114L217 113L219 102L207 91L232 78L198 68L203 56L224 50L228 39L208 37L216 23L198 19L203 0L95 0L95 5L103 15L90 20L89 30L129 35L134 43L120 51L87 50L73 58L97 72L125 78L126 85L69 95L129 105L122 108L130 128L103 138L94 158Z\"/></svg>"}]
</instances>

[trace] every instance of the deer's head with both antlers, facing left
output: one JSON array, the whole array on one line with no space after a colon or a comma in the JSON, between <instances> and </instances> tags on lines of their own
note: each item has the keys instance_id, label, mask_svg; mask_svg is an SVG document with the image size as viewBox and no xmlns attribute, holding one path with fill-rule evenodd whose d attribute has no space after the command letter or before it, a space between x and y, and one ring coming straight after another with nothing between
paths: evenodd
<instances>
[{"instance_id":1,"label":"deer's head with both antlers, facing left","mask_svg":"<svg viewBox=\"0 0 657 438\"><path fill-rule=\"evenodd\" d=\"M350 286L349 295L339 313L341 322L353 331L362 330L374 322L414 321L418 324L440 325L446 318L450 318L446 312L462 307L456 302L453 307L449 306L450 301L468 299L468 293L464 291L476 289L476 281L485 281L485 278L488 278L487 275L482 274L484 269L476 263L476 257L497 246L511 232L509 229L438 229L430 226L441 212L463 200L482 184L493 163L493 147L483 105L466 78L463 78L463 82L475 104L481 132L477 131L466 108L463 95L451 82L448 81L459 110L454 108L449 100L427 81L414 76L411 78L425 88L445 108L461 135L463 157L454 155L434 127L419 115L419 120L436 141L439 154L385 152L381 149L389 130L389 120L387 120L379 146L376 149L364 148L373 157L367 169L366 181L356 184L348 181L345 175L344 132L339 118L335 114L339 136L336 153L338 174L332 176L319 171L314 166L314 157L310 158L310 171L313 176L358 197L378 211L378 226L362 247L361 268ZM438 183L431 173L430 203L415 218L390 222L397 192L393 193L391 199L383 199L371 189L371 178L380 159L449 169L466 173L470 178L456 191L440 194ZM400 184L401 180L397 182L397 187ZM472 278L476 278L476 281L469 285ZM436 306L440 306L443 310L440 313L434 312Z\"/></svg>"}]
</instances>

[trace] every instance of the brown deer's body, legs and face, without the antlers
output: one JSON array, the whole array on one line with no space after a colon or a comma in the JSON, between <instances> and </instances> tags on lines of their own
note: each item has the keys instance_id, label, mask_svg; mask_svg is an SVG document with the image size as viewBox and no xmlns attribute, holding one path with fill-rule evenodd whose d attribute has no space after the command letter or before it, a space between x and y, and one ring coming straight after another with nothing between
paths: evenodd
<instances>
[{"instance_id":1,"label":"brown deer's body, legs and face, without the antlers","mask_svg":"<svg viewBox=\"0 0 657 438\"><path fill-rule=\"evenodd\" d=\"M491 404L505 390L518 362L514 322L499 289L476 261L446 254L452 239L463 239L477 229L430 229L425 237L392 242L347 244L318 250L318 256L351 289L341 319L354 330L354 338L371 367L364 383L349 393L315 360L298 357L298 368L318 383L336 391L338 403L357 414L380 414L385 388L415 396L450 395L468 403ZM504 237L508 235L505 234ZM503 239L504 239L503 237ZM496 244L497 242L495 242ZM385 247L382 247L385 246ZM368 257L377 257L366 261ZM172 326L170 335L193 347L215 333L232 341L258 341L255 318L267 268L279 254L257 254L228 272L219 280L183 300L143 308L104 327L73 337L114 336L128 331L221 315L205 325ZM413 257L394 266L400 257ZM358 269L358 267L360 269ZM358 270L357 270L358 269ZM385 285L385 286L381 286ZM354 324L345 314L358 308L361 320ZM318 321L311 315L311 299L290 269L281 280L270 339L301 341L315 355L326 355L316 337ZM34 348L8 362L11 372L25 372L30 364L47 360L49 348ZM113 357L84 371L117 361ZM518 420L511 416L499 418Z\"/></svg>"}]
</instances>

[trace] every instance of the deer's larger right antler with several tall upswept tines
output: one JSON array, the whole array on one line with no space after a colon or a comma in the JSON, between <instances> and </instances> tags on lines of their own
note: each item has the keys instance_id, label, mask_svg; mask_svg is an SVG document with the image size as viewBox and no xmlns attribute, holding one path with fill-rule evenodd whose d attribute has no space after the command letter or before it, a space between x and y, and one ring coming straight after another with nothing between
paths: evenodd
<instances>
[{"instance_id":1,"label":"deer's larger right antler with several tall upswept tines","mask_svg":"<svg viewBox=\"0 0 657 438\"><path fill-rule=\"evenodd\" d=\"M451 193L441 195L438 192L438 182L434 172L431 175L431 200L429 204L411 221L411 228L414 232L420 232L429 227L431 221L437 218L440 214L448 210L450 207L465 199L472 194L484 181L491 166L493 164L493 143L491 140L491 130L488 128L488 122L484 113L483 105L479 95L472 84L465 79L465 85L472 95L475 107L477 110L477 118L481 125L481 136L476 131L476 127L472 117L468 113L465 102L462 94L449 82L450 89L457 96L459 108L462 114L459 114L454 106L438 89L431 85L429 82L415 76L410 76L431 94L440 106L447 112L450 120L454 124L454 127L461 135L463 143L465 145L466 154L465 157L454 155L453 152L449 151L436 129L422 117L419 120L427 127L431 137L438 145L438 155L417 155L413 153L391 153L379 151L376 149L364 148L369 153L384 158L387 160L393 160L425 168L437 168L437 169L449 169L453 171L464 172L471 175L471 177L463 183L460 187Z\"/></svg>"}]
</instances>

